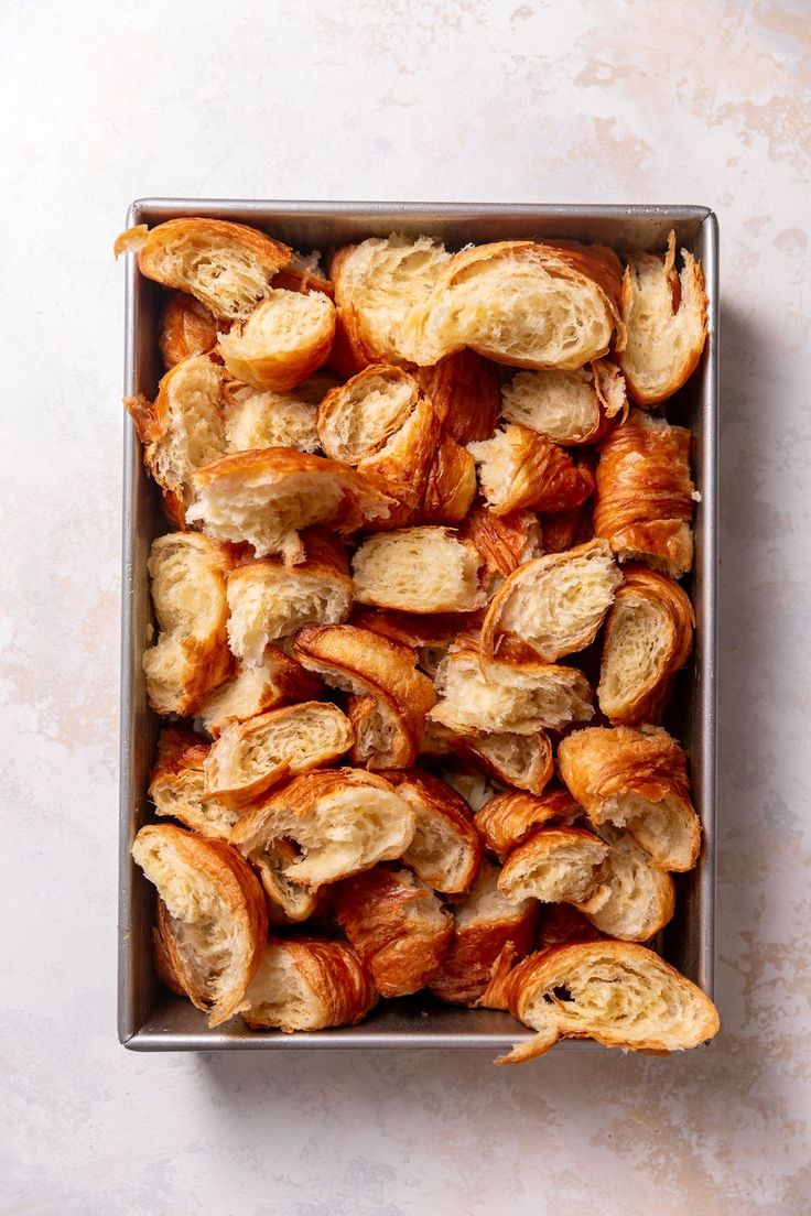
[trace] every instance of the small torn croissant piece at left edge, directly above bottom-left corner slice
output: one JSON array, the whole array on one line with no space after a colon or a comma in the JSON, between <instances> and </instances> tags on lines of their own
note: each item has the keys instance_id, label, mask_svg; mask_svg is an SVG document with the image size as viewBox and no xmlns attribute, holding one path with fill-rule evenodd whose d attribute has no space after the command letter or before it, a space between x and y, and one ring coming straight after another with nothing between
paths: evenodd
<instances>
[{"instance_id":1,"label":"small torn croissant piece at left edge, directly above bottom-left corner slice","mask_svg":"<svg viewBox=\"0 0 811 1216\"><path fill-rule=\"evenodd\" d=\"M180 820L199 835L227 840L237 812L205 794L203 764L209 747L191 731L175 726L162 731L148 794L157 815Z\"/></svg>"}]
</instances>

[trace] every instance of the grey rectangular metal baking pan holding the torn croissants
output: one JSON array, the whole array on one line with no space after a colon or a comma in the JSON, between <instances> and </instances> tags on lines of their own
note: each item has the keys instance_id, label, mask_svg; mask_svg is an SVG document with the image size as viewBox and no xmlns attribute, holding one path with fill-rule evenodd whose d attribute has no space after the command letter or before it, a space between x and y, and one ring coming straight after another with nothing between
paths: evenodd
<instances>
[{"instance_id":1,"label":"grey rectangular metal baking pan holding the torn croissants","mask_svg":"<svg viewBox=\"0 0 811 1216\"><path fill-rule=\"evenodd\" d=\"M306 252L392 231L430 233L451 247L508 237L573 237L616 249L663 248L670 229L678 247L703 263L710 302L710 337L702 366L668 406L671 421L693 432L697 615L695 652L682 674L668 725L687 748L695 806L704 824L698 867L676 877L677 910L664 930L664 956L710 997L714 989L715 929L715 702L716 702L716 534L717 534L717 221L705 207L595 207L472 203L306 203L146 198L130 207L128 226L159 224L180 215L241 220ZM135 258L126 268L125 393L152 396L160 375L157 317L160 288L142 278ZM158 492L141 465L135 428L124 423L124 545L120 732L120 896L118 1034L134 1051L221 1051L312 1047L481 1047L491 1053L530 1038L508 1014L432 1003L419 993L385 1001L360 1026L317 1034L249 1031L238 1018L209 1030L202 1013L167 992L152 963L154 891L130 858L137 829L151 817L146 789L158 720L148 709L141 655L151 629L147 554L167 530ZM596 1045L564 1040L557 1051Z\"/></svg>"}]
</instances>

